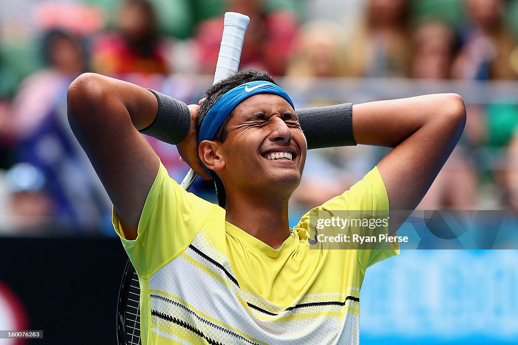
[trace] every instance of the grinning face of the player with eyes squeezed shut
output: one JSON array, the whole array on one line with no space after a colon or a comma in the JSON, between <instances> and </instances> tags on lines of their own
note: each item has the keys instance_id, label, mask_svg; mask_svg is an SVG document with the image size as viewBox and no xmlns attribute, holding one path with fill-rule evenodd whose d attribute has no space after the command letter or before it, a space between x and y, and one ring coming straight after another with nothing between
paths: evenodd
<instances>
[{"instance_id":1,"label":"grinning face of the player with eyes squeezed shut","mask_svg":"<svg viewBox=\"0 0 518 345\"><path fill-rule=\"evenodd\" d=\"M234 109L227 132L221 148L232 185L288 194L297 188L307 144L295 110L284 98L247 98Z\"/></svg>"}]
</instances>

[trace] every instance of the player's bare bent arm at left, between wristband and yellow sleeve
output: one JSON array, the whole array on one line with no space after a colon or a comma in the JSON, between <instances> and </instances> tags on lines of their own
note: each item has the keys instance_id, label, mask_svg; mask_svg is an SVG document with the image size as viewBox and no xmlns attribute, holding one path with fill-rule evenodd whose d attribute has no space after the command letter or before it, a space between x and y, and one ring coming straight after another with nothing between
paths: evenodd
<instances>
[{"instance_id":1,"label":"player's bare bent arm at left, between wristband and yellow sleeve","mask_svg":"<svg viewBox=\"0 0 518 345\"><path fill-rule=\"evenodd\" d=\"M140 86L94 73L81 74L67 94L70 127L123 224L127 239L137 227L159 159L138 132L155 119L158 102Z\"/></svg>"}]
</instances>

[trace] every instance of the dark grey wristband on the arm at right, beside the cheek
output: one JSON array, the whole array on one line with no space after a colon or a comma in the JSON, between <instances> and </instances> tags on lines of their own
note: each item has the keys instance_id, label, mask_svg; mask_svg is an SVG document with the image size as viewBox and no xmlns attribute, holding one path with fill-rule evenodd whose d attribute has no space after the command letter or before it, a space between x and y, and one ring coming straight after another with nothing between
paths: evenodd
<instances>
[{"instance_id":1,"label":"dark grey wristband on the arm at right, beside the cheek","mask_svg":"<svg viewBox=\"0 0 518 345\"><path fill-rule=\"evenodd\" d=\"M354 146L353 104L297 110L308 148Z\"/></svg>"}]
</instances>

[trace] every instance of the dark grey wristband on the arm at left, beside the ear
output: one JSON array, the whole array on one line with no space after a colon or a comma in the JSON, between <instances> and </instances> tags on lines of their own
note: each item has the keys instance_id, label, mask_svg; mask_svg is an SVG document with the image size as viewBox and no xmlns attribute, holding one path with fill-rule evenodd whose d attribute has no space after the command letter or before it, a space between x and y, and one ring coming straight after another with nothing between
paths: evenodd
<instances>
[{"instance_id":1,"label":"dark grey wristband on the arm at left, beside the ear","mask_svg":"<svg viewBox=\"0 0 518 345\"><path fill-rule=\"evenodd\" d=\"M150 88L148 90L159 102L159 110L151 125L139 132L169 144L180 143L191 127L191 112L187 104Z\"/></svg>"}]
</instances>

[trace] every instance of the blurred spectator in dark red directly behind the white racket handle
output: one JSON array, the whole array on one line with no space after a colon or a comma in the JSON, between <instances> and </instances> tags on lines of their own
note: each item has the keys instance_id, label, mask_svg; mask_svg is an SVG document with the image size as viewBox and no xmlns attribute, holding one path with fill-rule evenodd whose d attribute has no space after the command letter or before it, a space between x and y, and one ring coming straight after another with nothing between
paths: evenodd
<instances>
[{"instance_id":1,"label":"blurred spectator in dark red directly behind the white racket handle","mask_svg":"<svg viewBox=\"0 0 518 345\"><path fill-rule=\"evenodd\" d=\"M240 68L266 70L274 76L283 76L298 29L296 14L289 9L268 12L265 2L260 0L227 0L226 7L228 11L250 17ZM222 32L223 17L212 18L198 25L194 44L200 72L214 73Z\"/></svg>"}]
</instances>

